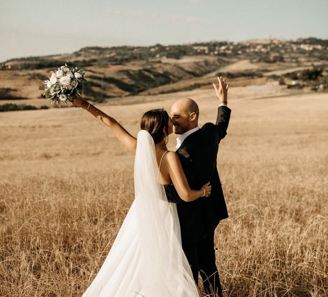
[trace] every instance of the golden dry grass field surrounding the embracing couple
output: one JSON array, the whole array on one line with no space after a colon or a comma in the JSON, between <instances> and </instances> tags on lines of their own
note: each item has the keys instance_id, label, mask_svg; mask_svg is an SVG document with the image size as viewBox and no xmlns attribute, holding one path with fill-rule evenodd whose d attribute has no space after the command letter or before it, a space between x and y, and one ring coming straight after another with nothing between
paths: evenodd
<instances>
[{"instance_id":1,"label":"golden dry grass field surrounding the embracing couple","mask_svg":"<svg viewBox=\"0 0 328 297\"><path fill-rule=\"evenodd\" d=\"M230 217L215 238L224 294L327 296L328 94L229 91L218 168ZM216 119L209 89L96 106L136 135L145 111L183 96L201 125ZM0 296L81 296L134 199L133 155L76 108L1 113L0 143Z\"/></svg>"}]
</instances>

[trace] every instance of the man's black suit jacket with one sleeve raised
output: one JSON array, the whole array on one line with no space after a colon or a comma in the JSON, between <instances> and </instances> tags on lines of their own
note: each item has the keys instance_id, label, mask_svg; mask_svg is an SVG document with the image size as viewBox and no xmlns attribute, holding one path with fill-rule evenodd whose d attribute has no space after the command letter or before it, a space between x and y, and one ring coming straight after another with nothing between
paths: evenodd
<instances>
[{"instance_id":1,"label":"man's black suit jacket with one sleeve raised","mask_svg":"<svg viewBox=\"0 0 328 297\"><path fill-rule=\"evenodd\" d=\"M228 217L216 158L219 143L227 134L230 113L229 108L220 106L216 123L206 123L189 135L176 151L191 189L199 190L208 181L212 186L209 197L192 202L184 202L173 185L164 186L168 201L177 203L184 245L202 240L220 220Z\"/></svg>"}]
</instances>

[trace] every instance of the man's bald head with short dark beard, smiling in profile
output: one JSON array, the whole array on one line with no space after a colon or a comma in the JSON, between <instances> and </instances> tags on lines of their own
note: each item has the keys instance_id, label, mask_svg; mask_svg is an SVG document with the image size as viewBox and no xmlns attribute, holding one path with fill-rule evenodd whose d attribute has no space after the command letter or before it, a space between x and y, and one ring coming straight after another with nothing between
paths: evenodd
<instances>
[{"instance_id":1,"label":"man's bald head with short dark beard, smiling in profile","mask_svg":"<svg viewBox=\"0 0 328 297\"><path fill-rule=\"evenodd\" d=\"M198 126L199 108L191 98L179 99L172 105L171 119L176 134L183 134Z\"/></svg>"}]
</instances>

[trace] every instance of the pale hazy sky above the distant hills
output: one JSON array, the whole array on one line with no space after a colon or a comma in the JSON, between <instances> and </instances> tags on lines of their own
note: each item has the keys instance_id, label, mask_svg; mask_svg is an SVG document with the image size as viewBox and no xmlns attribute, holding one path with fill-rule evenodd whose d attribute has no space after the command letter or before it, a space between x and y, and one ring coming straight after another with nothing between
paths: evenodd
<instances>
[{"instance_id":1,"label":"pale hazy sky above the distant hills","mask_svg":"<svg viewBox=\"0 0 328 297\"><path fill-rule=\"evenodd\" d=\"M0 62L86 46L328 39L328 0L0 0Z\"/></svg>"}]
</instances>

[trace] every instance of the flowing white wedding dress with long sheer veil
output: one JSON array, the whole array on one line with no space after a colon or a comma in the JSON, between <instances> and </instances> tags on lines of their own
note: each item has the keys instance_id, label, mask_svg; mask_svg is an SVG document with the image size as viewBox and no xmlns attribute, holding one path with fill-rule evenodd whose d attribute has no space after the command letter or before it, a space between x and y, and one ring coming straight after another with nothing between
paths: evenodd
<instances>
[{"instance_id":1,"label":"flowing white wedding dress with long sheer veil","mask_svg":"<svg viewBox=\"0 0 328 297\"><path fill-rule=\"evenodd\" d=\"M199 297L181 246L177 206L167 201L158 171L153 139L141 130L135 200L83 297Z\"/></svg>"}]
</instances>

